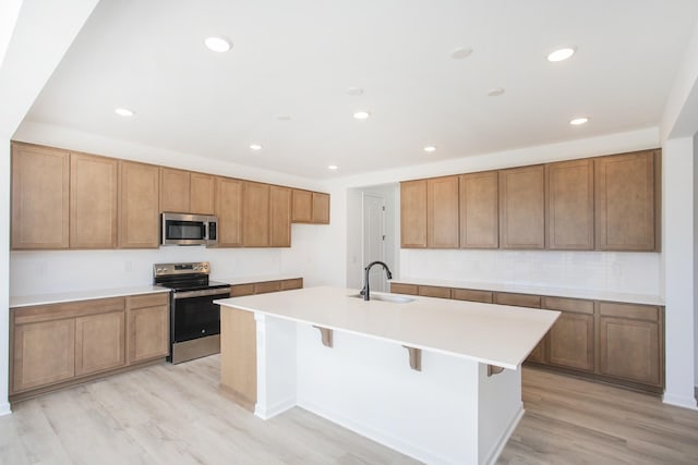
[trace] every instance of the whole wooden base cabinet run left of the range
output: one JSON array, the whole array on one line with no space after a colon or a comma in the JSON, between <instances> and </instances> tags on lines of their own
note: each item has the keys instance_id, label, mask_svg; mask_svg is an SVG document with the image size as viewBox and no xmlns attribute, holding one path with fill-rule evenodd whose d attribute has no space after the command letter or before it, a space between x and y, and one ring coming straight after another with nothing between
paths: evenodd
<instances>
[{"instance_id":1,"label":"whole wooden base cabinet run left of the range","mask_svg":"<svg viewBox=\"0 0 698 465\"><path fill-rule=\"evenodd\" d=\"M168 347L168 293L13 308L10 401L164 358Z\"/></svg>"}]
</instances>

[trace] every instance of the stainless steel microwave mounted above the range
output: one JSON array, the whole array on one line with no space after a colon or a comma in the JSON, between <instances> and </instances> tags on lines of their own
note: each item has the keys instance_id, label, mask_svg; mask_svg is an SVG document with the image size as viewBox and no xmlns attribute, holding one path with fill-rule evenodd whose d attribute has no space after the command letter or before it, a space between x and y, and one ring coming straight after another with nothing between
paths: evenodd
<instances>
[{"instance_id":1,"label":"stainless steel microwave mounted above the range","mask_svg":"<svg viewBox=\"0 0 698 465\"><path fill-rule=\"evenodd\" d=\"M216 245L218 219L207 215L161 215L161 245Z\"/></svg>"}]
</instances>

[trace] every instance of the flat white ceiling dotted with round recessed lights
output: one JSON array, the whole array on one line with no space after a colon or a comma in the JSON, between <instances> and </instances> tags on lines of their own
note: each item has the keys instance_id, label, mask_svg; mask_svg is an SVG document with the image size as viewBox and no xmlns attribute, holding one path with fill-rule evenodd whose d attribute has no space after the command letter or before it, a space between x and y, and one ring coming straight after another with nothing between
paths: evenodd
<instances>
[{"instance_id":1,"label":"flat white ceiling dotted with round recessed lights","mask_svg":"<svg viewBox=\"0 0 698 465\"><path fill-rule=\"evenodd\" d=\"M655 126L697 19L696 0L103 0L26 120L327 179Z\"/></svg>"}]
</instances>

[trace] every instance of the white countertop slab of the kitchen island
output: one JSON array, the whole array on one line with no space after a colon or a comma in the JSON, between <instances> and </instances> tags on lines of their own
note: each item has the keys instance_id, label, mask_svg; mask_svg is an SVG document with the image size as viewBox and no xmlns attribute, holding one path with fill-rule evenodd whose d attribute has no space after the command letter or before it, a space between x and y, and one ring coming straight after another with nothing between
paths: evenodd
<instances>
[{"instance_id":1,"label":"white countertop slab of the kitchen island","mask_svg":"<svg viewBox=\"0 0 698 465\"><path fill-rule=\"evenodd\" d=\"M222 311L261 313L510 369L517 369L559 315L421 296L405 304L349 297L357 293L321 286L215 302Z\"/></svg>"}]
</instances>

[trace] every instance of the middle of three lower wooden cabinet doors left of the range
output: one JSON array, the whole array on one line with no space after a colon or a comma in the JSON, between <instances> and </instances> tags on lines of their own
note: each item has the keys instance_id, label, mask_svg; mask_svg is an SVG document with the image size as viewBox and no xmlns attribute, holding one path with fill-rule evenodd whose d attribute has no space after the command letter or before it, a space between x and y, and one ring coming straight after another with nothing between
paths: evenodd
<instances>
[{"instance_id":1,"label":"middle of three lower wooden cabinet doors left of the range","mask_svg":"<svg viewBox=\"0 0 698 465\"><path fill-rule=\"evenodd\" d=\"M75 376L125 365L125 314L75 318Z\"/></svg>"}]
</instances>

